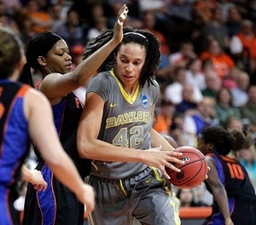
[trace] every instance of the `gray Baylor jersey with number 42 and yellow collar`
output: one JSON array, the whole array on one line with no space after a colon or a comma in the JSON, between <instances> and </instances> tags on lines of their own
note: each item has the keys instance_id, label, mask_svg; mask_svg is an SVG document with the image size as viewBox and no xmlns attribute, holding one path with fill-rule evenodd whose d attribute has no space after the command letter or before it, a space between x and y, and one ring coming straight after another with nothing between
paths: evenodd
<instances>
[{"instance_id":1,"label":"gray Baylor jersey with number 42 and yellow collar","mask_svg":"<svg viewBox=\"0 0 256 225\"><path fill-rule=\"evenodd\" d=\"M143 88L138 87L131 97L127 95L113 71L101 72L90 81L87 93L90 92L100 95L105 102L99 140L119 147L150 147L151 111L159 95L156 81L149 87L148 84ZM98 170L92 169L91 174L110 179L132 176L147 167L142 163L105 164L100 161L96 161L96 166Z\"/></svg>"}]
</instances>

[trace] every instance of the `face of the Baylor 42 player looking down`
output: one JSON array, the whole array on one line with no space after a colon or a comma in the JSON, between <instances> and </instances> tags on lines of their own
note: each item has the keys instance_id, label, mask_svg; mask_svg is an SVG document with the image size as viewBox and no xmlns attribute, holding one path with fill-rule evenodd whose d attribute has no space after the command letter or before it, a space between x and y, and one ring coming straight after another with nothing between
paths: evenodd
<instances>
[{"instance_id":1,"label":"face of the Baylor 42 player looking down","mask_svg":"<svg viewBox=\"0 0 256 225\"><path fill-rule=\"evenodd\" d=\"M137 87L146 58L146 49L137 43L120 46L117 54L116 75L124 87Z\"/></svg>"}]
</instances>

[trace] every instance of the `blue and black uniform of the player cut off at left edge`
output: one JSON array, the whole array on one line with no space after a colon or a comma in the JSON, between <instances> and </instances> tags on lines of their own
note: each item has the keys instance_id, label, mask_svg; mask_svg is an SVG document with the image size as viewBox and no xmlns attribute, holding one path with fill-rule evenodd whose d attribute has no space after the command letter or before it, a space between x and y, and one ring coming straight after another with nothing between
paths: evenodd
<instances>
[{"instance_id":1,"label":"blue and black uniform of the player cut off at left edge","mask_svg":"<svg viewBox=\"0 0 256 225\"><path fill-rule=\"evenodd\" d=\"M28 89L27 85L0 80L0 224L10 221L18 224L13 202L18 197L16 181L20 179L20 168L29 152L28 124L23 109L23 97Z\"/></svg>"}]
</instances>

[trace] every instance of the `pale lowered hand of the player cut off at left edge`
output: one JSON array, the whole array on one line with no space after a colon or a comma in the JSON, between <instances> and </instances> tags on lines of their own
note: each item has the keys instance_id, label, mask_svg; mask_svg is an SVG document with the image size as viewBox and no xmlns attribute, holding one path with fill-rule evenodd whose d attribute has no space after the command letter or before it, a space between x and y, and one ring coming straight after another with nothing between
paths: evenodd
<instances>
[{"instance_id":1,"label":"pale lowered hand of the player cut off at left edge","mask_svg":"<svg viewBox=\"0 0 256 225\"><path fill-rule=\"evenodd\" d=\"M82 192L77 194L77 198L81 203L84 203L86 208L86 213L90 214L90 212L95 209L95 193L93 187L88 184L84 184L84 188Z\"/></svg>"}]
</instances>

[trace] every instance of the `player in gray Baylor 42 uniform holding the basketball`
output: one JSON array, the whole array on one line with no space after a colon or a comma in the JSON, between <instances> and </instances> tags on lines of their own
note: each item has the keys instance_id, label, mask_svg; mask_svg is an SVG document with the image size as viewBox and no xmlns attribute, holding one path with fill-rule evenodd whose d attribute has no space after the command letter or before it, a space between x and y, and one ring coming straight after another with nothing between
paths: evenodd
<instances>
[{"instance_id":1,"label":"player in gray Baylor 42 uniform holding the basketball","mask_svg":"<svg viewBox=\"0 0 256 225\"><path fill-rule=\"evenodd\" d=\"M84 57L112 35L108 30L93 39ZM89 179L96 191L89 218L95 225L132 224L134 217L142 224L180 224L165 167L180 171L169 162L183 164L176 158L182 153L152 129L159 63L154 34L125 27L123 41L88 86L77 143L82 157L96 159Z\"/></svg>"}]
</instances>

